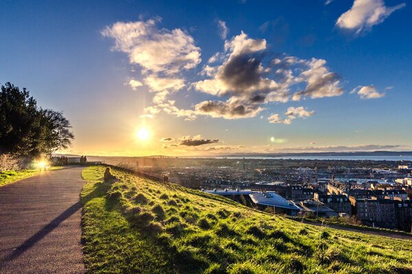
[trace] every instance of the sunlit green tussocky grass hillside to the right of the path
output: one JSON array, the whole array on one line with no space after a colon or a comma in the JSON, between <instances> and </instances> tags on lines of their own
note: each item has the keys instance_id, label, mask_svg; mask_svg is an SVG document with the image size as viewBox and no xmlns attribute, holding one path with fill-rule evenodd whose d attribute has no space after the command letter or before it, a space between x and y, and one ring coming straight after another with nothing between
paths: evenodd
<instances>
[{"instance_id":1,"label":"sunlit green tussocky grass hillside to the right of the path","mask_svg":"<svg viewBox=\"0 0 412 274\"><path fill-rule=\"evenodd\" d=\"M104 167L82 175L89 273L412 273L412 242L313 227Z\"/></svg>"}]
</instances>

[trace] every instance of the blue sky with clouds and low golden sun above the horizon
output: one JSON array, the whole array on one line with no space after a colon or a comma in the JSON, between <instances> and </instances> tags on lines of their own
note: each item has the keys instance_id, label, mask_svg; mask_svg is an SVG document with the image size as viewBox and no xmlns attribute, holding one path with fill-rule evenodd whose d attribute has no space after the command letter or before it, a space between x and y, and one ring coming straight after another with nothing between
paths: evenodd
<instances>
[{"instance_id":1,"label":"blue sky with clouds and low golden sun above the horizon","mask_svg":"<svg viewBox=\"0 0 412 274\"><path fill-rule=\"evenodd\" d=\"M81 155L412 150L406 0L0 2L0 83Z\"/></svg>"}]
</instances>

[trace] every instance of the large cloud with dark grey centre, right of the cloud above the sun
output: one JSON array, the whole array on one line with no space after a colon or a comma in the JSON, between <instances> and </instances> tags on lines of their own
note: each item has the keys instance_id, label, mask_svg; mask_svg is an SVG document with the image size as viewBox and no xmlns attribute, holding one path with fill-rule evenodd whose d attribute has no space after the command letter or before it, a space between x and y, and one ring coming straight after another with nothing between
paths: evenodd
<instances>
[{"instance_id":1,"label":"large cloud with dark grey centre, right of the cloud above the sun","mask_svg":"<svg viewBox=\"0 0 412 274\"><path fill-rule=\"evenodd\" d=\"M229 97L227 101L203 101L196 105L198 114L225 119L249 118L264 110L271 102L286 103L292 98L321 98L343 93L340 77L330 72L326 61L312 58L301 60L294 56L280 55L270 59L266 40L249 38L242 32L225 41L225 51L218 55L222 63L204 66L203 75L209 79L192 84L195 90L216 97ZM216 58L211 58L216 62ZM209 62L210 63L210 62ZM293 97L290 90L306 84ZM282 121L289 123L290 119ZM275 119L271 119L272 123Z\"/></svg>"}]
</instances>

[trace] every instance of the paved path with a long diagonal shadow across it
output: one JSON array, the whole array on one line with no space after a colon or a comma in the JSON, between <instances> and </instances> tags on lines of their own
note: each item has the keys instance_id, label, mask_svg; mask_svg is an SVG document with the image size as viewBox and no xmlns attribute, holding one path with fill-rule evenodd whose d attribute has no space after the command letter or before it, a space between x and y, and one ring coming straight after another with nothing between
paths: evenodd
<instances>
[{"instance_id":1,"label":"paved path with a long diagonal shadow across it","mask_svg":"<svg viewBox=\"0 0 412 274\"><path fill-rule=\"evenodd\" d=\"M82 168L0 187L0 273L84 273Z\"/></svg>"}]
</instances>

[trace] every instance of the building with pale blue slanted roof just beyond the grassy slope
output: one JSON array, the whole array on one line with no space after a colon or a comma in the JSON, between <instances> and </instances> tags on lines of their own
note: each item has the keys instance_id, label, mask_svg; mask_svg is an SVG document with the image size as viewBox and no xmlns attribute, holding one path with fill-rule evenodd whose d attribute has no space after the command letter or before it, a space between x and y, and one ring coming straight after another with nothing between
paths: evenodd
<instances>
[{"instance_id":1,"label":"building with pale blue slanted roof just beyond the grassy slope","mask_svg":"<svg viewBox=\"0 0 412 274\"><path fill-rule=\"evenodd\" d=\"M275 213L296 215L301 209L291 201L287 201L284 197L278 195L274 191L268 192L253 192L249 195L255 206L260 210L273 208Z\"/></svg>"}]
</instances>

